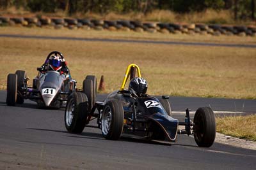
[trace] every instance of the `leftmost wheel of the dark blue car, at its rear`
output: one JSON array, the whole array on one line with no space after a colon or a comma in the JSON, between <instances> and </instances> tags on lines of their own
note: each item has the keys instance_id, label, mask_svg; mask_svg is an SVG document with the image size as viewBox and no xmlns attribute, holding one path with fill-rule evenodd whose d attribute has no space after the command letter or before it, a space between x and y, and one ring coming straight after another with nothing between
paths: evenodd
<instances>
[{"instance_id":1,"label":"leftmost wheel of the dark blue car, at its rear","mask_svg":"<svg viewBox=\"0 0 256 170\"><path fill-rule=\"evenodd\" d=\"M88 100L84 93L73 92L68 96L65 109L65 127L68 132L80 134L84 130L87 118Z\"/></svg>"}]
</instances>

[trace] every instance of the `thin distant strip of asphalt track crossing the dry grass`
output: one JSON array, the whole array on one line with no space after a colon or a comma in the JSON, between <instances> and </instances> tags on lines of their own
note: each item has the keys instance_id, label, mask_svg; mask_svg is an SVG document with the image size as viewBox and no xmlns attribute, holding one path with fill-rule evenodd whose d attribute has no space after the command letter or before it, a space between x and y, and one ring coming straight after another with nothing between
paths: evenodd
<instances>
[{"instance_id":1,"label":"thin distant strip of asphalt track crossing the dry grass","mask_svg":"<svg viewBox=\"0 0 256 170\"><path fill-rule=\"evenodd\" d=\"M57 39L72 41L102 41L111 43L149 43L164 45L189 45L189 46L223 46L223 47L240 47L240 48L256 48L256 45L244 44L228 44L228 43L196 43L196 42L180 42L180 41L150 41L150 40L131 40L131 39L102 39L102 38L72 38L72 37L56 37L56 36L26 36L18 34L0 34L5 38L26 38L26 39Z\"/></svg>"}]
</instances>

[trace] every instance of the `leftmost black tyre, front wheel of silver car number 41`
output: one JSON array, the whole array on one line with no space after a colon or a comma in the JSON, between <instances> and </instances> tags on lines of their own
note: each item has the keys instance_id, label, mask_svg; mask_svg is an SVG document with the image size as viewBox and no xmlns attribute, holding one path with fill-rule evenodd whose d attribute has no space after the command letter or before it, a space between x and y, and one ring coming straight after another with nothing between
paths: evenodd
<instances>
[{"instance_id":1,"label":"leftmost black tyre, front wheel of silver car number 41","mask_svg":"<svg viewBox=\"0 0 256 170\"><path fill-rule=\"evenodd\" d=\"M17 74L8 74L6 104L8 106L15 106L16 101L17 101Z\"/></svg>"}]
</instances>

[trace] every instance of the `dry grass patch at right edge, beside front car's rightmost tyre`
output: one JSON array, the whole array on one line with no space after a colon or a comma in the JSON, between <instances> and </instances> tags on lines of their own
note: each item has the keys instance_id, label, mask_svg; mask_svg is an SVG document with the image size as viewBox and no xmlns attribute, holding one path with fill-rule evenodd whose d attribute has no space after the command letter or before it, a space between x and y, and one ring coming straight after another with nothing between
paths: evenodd
<instances>
[{"instance_id":1,"label":"dry grass patch at right edge, beside front car's rightmost tyre","mask_svg":"<svg viewBox=\"0 0 256 170\"><path fill-rule=\"evenodd\" d=\"M216 118L217 132L256 141L256 115Z\"/></svg>"}]
</instances>

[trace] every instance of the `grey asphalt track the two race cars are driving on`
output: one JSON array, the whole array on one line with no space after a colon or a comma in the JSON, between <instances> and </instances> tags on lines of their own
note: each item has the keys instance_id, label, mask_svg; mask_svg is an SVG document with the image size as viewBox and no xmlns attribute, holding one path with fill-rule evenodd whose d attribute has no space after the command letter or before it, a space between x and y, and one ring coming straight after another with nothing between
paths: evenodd
<instances>
[{"instance_id":1,"label":"grey asphalt track the two race cars are driving on","mask_svg":"<svg viewBox=\"0 0 256 170\"><path fill-rule=\"evenodd\" d=\"M99 95L97 100L104 97ZM255 169L256 150L220 143L199 148L192 137L184 135L170 145L125 136L109 141L102 138L100 129L88 127L82 134L70 134L63 110L40 110L28 100L6 106L5 100L6 92L0 91L0 169ZM191 97L171 97L170 101L173 111L207 103L215 110L227 104L233 111L234 101L244 103ZM254 109L255 101L251 101L253 106L249 103L245 101L244 111Z\"/></svg>"}]
</instances>

